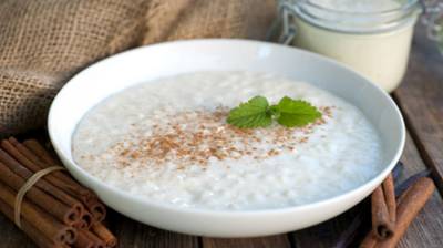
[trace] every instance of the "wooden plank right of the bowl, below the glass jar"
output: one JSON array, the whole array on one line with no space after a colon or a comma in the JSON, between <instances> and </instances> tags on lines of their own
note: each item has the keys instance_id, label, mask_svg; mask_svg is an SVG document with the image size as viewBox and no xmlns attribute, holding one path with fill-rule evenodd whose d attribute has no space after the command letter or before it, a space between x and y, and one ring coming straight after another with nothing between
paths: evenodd
<instances>
[{"instance_id":1,"label":"wooden plank right of the bowl, below the glass jar","mask_svg":"<svg viewBox=\"0 0 443 248\"><path fill-rule=\"evenodd\" d=\"M424 31L415 30L408 73L394 97L443 193L443 56Z\"/></svg>"}]
</instances>

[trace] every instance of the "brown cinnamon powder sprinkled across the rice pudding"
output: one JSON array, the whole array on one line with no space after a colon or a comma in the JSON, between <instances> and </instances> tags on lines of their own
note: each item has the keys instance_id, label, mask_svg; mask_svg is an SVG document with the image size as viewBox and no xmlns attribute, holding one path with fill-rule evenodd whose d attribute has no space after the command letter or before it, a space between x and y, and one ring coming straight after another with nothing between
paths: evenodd
<instances>
[{"instance_id":1,"label":"brown cinnamon powder sprinkled across the rice pudding","mask_svg":"<svg viewBox=\"0 0 443 248\"><path fill-rule=\"evenodd\" d=\"M127 138L111 147L119 154L117 163L125 167L131 161L162 165L168 162L206 166L210 159L239 159L244 156L266 159L281 152L295 152L297 145L307 143L313 128L332 117L330 106L319 107L323 117L301 128L272 125L266 128L241 130L226 123L229 110L185 111L168 116L165 125L154 124L148 135L131 133ZM132 125L136 128L136 125ZM295 135L297 134L297 135Z\"/></svg>"}]
</instances>

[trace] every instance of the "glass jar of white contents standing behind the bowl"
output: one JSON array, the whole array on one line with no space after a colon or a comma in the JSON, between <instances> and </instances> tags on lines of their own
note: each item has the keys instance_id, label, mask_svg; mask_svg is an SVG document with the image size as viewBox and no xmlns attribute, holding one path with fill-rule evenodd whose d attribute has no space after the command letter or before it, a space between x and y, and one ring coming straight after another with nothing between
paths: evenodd
<instances>
[{"instance_id":1,"label":"glass jar of white contents standing behind the bowl","mask_svg":"<svg viewBox=\"0 0 443 248\"><path fill-rule=\"evenodd\" d=\"M280 0L279 7L286 42L348 64L387 92L400 84L419 0Z\"/></svg>"}]
</instances>

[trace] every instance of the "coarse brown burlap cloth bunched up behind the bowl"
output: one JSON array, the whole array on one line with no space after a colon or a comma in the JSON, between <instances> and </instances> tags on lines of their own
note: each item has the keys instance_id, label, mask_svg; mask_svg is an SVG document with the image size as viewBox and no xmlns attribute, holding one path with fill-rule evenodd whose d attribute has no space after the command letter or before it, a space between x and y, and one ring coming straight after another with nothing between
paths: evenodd
<instances>
[{"instance_id":1,"label":"coarse brown burlap cloth bunched up behind the bowl","mask_svg":"<svg viewBox=\"0 0 443 248\"><path fill-rule=\"evenodd\" d=\"M44 126L56 92L96 60L167 40L261 39L276 12L274 4L274 0L1 0L0 136Z\"/></svg>"}]
</instances>

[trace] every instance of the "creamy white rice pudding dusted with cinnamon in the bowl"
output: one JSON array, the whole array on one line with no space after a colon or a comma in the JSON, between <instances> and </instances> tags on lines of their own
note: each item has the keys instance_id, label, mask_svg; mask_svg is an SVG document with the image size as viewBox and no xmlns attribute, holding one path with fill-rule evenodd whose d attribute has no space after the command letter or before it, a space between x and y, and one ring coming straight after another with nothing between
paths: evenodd
<instances>
[{"instance_id":1,"label":"creamy white rice pudding dusted with cinnamon in the bowl","mask_svg":"<svg viewBox=\"0 0 443 248\"><path fill-rule=\"evenodd\" d=\"M302 99L322 118L302 128L238 130L253 96ZM80 166L109 185L188 208L297 206L351 190L380 172L374 127L351 104L270 74L197 72L142 83L100 103L73 136Z\"/></svg>"}]
</instances>

